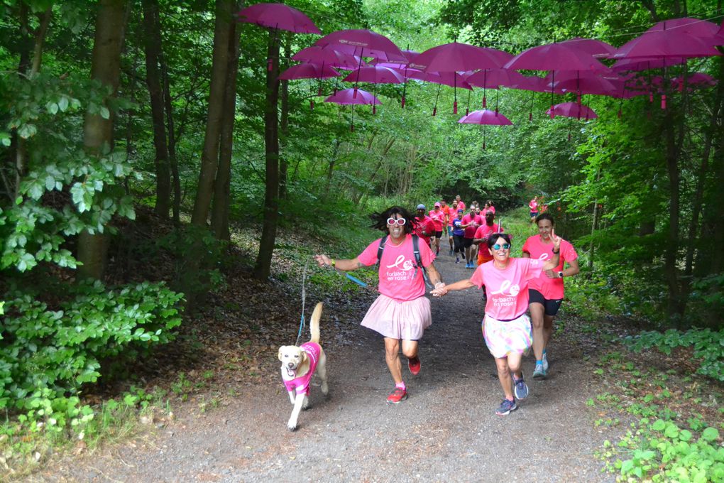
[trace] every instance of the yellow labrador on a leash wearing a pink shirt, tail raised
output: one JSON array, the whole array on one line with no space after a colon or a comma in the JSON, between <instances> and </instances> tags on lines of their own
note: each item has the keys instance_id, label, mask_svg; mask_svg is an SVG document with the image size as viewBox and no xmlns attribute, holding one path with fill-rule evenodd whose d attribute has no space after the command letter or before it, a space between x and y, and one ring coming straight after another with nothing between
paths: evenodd
<instances>
[{"instance_id":1,"label":"yellow labrador on a leash wearing a pink shirt, tail raised","mask_svg":"<svg viewBox=\"0 0 724 483\"><path fill-rule=\"evenodd\" d=\"M279 361L282 361L282 379L289 392L289 399L294 405L292 416L287 421L287 429L297 429L300 411L309 406L309 382L316 369L321 379L321 392L327 395L327 356L319 345L319 319L321 319L322 303L314 308L309 324L311 340L302 345L282 345L279 348Z\"/></svg>"}]
</instances>

